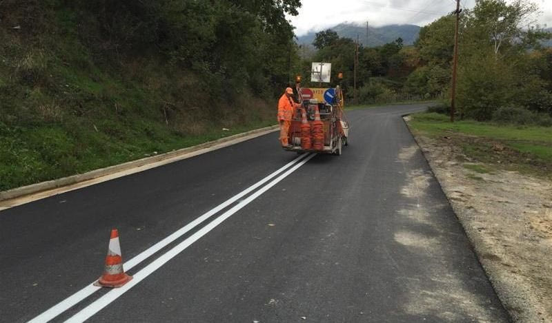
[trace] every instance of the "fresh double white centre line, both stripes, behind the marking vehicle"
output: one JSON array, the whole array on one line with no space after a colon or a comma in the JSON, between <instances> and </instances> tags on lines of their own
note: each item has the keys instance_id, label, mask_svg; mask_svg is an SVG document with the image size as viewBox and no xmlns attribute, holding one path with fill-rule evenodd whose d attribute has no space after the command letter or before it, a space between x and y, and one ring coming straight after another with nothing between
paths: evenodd
<instances>
[{"instance_id":1,"label":"fresh double white centre line, both stripes, behind the marking vehicle","mask_svg":"<svg viewBox=\"0 0 552 323\"><path fill-rule=\"evenodd\" d=\"M211 209L207 213L204 213L202 216L199 216L199 218L196 218L192 222L188 223L188 225L181 227L175 233L172 233L170 236L164 238L163 240L157 242L152 247L142 251L139 255L135 256L134 258L128 260L128 262L125 262L124 267L128 271L132 269L132 267L135 267L140 262L143 262L144 260L148 259L150 256L155 254L157 251L163 249L171 242L174 242L181 236L183 236L186 232L190 231L191 229L197 227L197 225L201 224L201 222L204 222L211 216L214 216L216 213L221 211L222 209L232 205L234 202L239 200L240 198L246 196L247 194L251 193L252 191L255 191L255 189L261 187L265 183L267 183L272 178L273 179L262 187L261 189L255 191L255 193L248 196L248 198L240 201L237 205L234 207L228 209L228 211L222 213L220 216L215 218L215 220L211 221L206 225L205 227L202 227L197 232L195 232L192 236L186 238L186 240L180 242L175 247L172 247L169 251L164 253L162 256L157 258L156 260L152 261L150 264L148 264L144 269L141 269L137 273L133 275L133 279L130 280L127 284L124 286L121 286L119 289L112 289L105 295L103 295L101 298L95 300L90 305L86 306L84 309L70 317L66 322L83 322L87 320L92 315L95 315L98 311L103 309L104 307L108 306L111 302L119 298L119 296L123 295L131 289L133 286L141 282L141 280L144 280L144 278L148 277L148 275L152 274L154 271L159 269L161 266L163 266L166 262L177 256L179 253L184 251L184 249L188 248L190 244L193 244L195 241L199 240L202 236L205 236L209 231L213 230L217 225L221 224L224 220L232 216L234 213L239 211L239 209L242 209L246 205L248 205L251 201L255 200L255 198L258 198L263 194L265 191L270 189L270 187L273 187L277 183L279 183L281 180L289 176L289 174L293 173L293 171L297 170L299 167L304 165L308 160L313 158L316 154L302 154L301 156L295 158L290 163L286 164L284 167L278 169L277 171L273 172L272 174L266 176L262 180L259 180L259 182L255 183L255 185L252 185L248 187L247 189L244 189L244 191L240 192L239 194L233 196L232 198L226 200L221 205L215 207L214 209ZM286 170L287 169L287 170ZM284 172L284 174L281 174ZM278 176L278 174L281 174ZM88 298L88 296L92 295L92 293L95 293L101 289L101 287L94 286L92 283L90 283L88 286L84 287L80 291L77 291L77 293L69 296L65 300L59 302L55 306L52 306L47 311L41 313L37 317L34 317L34 319L30 320L29 322L48 322L52 320L53 318L57 317L61 313L67 311L72 306L75 306L85 298Z\"/></svg>"}]
</instances>

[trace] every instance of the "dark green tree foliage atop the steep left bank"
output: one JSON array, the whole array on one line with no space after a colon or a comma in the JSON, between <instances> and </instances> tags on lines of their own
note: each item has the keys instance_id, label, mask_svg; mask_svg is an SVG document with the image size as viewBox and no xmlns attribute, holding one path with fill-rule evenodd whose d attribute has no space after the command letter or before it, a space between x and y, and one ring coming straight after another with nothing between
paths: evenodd
<instances>
[{"instance_id":1,"label":"dark green tree foliage atop the steep left bank","mask_svg":"<svg viewBox=\"0 0 552 323\"><path fill-rule=\"evenodd\" d=\"M273 92L286 83L288 57L295 48L284 14L297 14L300 3L79 0L63 6L79 14L81 37L91 46L101 44L100 54L157 49L175 67L199 72L210 84Z\"/></svg>"}]
</instances>

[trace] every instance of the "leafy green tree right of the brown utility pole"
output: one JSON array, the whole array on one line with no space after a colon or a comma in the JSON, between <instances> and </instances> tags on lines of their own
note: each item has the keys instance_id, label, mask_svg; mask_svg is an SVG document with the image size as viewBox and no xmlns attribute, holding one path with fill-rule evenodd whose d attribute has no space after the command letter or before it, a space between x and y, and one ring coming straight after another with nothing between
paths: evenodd
<instances>
[{"instance_id":1,"label":"leafy green tree right of the brown utility pole","mask_svg":"<svg viewBox=\"0 0 552 323\"><path fill-rule=\"evenodd\" d=\"M529 50L538 50L546 33L531 17L530 1L478 0L466 12L462 35L458 105L466 116L489 120L501 107L549 109L549 84L539 75Z\"/></svg>"}]
</instances>

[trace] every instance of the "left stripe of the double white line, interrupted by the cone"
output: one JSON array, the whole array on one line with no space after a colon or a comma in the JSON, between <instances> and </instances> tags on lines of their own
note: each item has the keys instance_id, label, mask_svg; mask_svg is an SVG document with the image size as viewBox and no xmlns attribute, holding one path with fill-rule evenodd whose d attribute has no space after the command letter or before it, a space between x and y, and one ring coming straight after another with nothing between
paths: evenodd
<instances>
[{"instance_id":1,"label":"left stripe of the double white line, interrupted by the cone","mask_svg":"<svg viewBox=\"0 0 552 323\"><path fill-rule=\"evenodd\" d=\"M142 251L141 253L139 253L134 258L132 258L132 259L128 260L127 262L125 262L124 263L124 269L126 271L132 269L132 267L135 267L137 264L139 264L140 262L146 260L147 258L152 256L157 251L163 249L164 247L166 247L171 242L177 240L178 238L183 236L186 232L188 232L191 229L195 228L201 222L204 222L205 220L207 220L211 216L215 215L216 213L218 213L222 209L224 209L224 208L228 207L229 205L231 205L233 202L236 202L240 198L244 197L246 194L249 194L254 189L257 189L259 186L261 186L264 183L268 182L268 180L270 180L271 178L274 178L278 174L282 173L282 171L284 171L284 170L288 169L289 167L293 166L295 163L299 162L299 160L302 160L306 156L308 156L308 154L302 154L301 156L298 156L297 158L290 161L289 163L287 163L283 167L281 167L281 168L277 169L276 171L274 171L272 174L266 176L262 180L259 180L259 182L257 182L254 185L248 187L247 189L244 189L244 191L242 191L239 194L233 196L232 198L229 198L228 200L223 202L221 205L219 205L219 206L215 207L214 209L211 209L210 211L204 213L202 216L199 216L199 218L196 218L192 222L188 223L188 225L185 225L184 227L181 227L180 229L178 229L174 233L170 234L170 236L167 236L163 240L157 242L156 244L152 245L148 249ZM76 304L78 304L79 302L84 300L85 298L88 298L88 296L92 295L92 293L95 293L99 289L101 289L101 287L94 286L94 285L92 285L92 283L90 283L88 286L84 287L80 291L77 291L77 293L74 293L73 295L70 295L65 300L59 302L58 304L55 304L50 309L48 309L45 312L41 313L37 317L34 317L32 320L29 321L29 323L48 322L48 321L52 320L53 318L57 317L57 315L67 311L72 306L75 306Z\"/></svg>"}]
</instances>

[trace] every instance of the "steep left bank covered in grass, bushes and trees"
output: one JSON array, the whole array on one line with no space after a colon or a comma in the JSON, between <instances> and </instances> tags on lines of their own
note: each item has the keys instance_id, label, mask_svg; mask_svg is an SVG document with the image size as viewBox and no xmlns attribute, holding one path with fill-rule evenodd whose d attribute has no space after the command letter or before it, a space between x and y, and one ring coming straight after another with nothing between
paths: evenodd
<instances>
[{"instance_id":1,"label":"steep left bank covered in grass, bushes and trees","mask_svg":"<svg viewBox=\"0 0 552 323\"><path fill-rule=\"evenodd\" d=\"M280 55L260 44L291 36L255 14L216 34L225 10L188 2L0 1L0 191L275 124L288 70L259 69Z\"/></svg>"}]
</instances>

